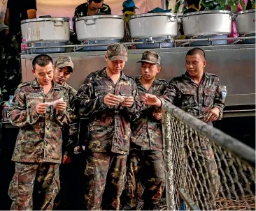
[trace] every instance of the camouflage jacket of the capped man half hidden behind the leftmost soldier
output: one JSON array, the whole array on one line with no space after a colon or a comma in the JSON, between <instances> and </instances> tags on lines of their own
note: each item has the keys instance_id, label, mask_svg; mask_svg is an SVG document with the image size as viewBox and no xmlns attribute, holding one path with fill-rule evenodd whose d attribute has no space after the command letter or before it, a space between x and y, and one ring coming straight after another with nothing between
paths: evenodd
<instances>
[{"instance_id":1,"label":"camouflage jacket of the capped man half hidden behind the leftmost soldier","mask_svg":"<svg viewBox=\"0 0 256 211\"><path fill-rule=\"evenodd\" d=\"M64 125L64 127L62 127L62 152L64 155L68 155L69 157L71 157L71 155L73 155L74 148L78 144L79 118L78 114L75 113L75 97L78 92L76 91L76 89L72 88L66 83L64 84L64 87L68 91L69 104L71 109L73 109L74 111L74 115L72 118L72 122L69 125Z\"/></svg>"}]
</instances>

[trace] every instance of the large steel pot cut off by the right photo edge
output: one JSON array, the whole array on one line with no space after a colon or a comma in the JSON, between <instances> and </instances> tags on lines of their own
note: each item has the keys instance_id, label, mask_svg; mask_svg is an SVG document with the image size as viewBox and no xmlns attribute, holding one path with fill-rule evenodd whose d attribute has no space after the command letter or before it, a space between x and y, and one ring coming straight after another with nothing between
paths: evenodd
<instances>
[{"instance_id":1,"label":"large steel pot cut off by the right photo edge","mask_svg":"<svg viewBox=\"0 0 256 211\"><path fill-rule=\"evenodd\" d=\"M239 12L236 24L237 32L240 34L255 33L255 9Z\"/></svg>"}]
</instances>

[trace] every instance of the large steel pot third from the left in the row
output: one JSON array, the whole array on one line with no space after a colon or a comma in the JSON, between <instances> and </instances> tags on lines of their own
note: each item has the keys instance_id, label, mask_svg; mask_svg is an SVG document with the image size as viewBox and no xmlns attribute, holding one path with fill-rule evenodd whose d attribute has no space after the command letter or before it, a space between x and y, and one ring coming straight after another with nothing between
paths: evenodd
<instances>
[{"instance_id":1,"label":"large steel pot third from the left in the row","mask_svg":"<svg viewBox=\"0 0 256 211\"><path fill-rule=\"evenodd\" d=\"M177 15L173 13L132 15L129 26L131 38L174 37L177 35Z\"/></svg>"}]
</instances>

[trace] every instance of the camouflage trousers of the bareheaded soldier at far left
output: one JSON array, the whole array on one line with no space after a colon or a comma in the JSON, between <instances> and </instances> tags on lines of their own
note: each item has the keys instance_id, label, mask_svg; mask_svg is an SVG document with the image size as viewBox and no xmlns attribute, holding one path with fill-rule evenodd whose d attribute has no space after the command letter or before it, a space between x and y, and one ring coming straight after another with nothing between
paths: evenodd
<instances>
[{"instance_id":1,"label":"camouflage trousers of the bareheaded soldier at far left","mask_svg":"<svg viewBox=\"0 0 256 211\"><path fill-rule=\"evenodd\" d=\"M15 163L8 192L13 201L10 210L52 210L58 192L59 164Z\"/></svg>"}]
</instances>

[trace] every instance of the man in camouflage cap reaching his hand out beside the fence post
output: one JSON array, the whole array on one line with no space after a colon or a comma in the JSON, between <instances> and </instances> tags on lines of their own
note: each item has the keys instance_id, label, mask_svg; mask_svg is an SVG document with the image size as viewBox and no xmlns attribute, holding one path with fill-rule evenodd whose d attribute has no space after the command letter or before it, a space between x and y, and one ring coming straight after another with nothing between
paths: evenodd
<instances>
[{"instance_id":1,"label":"man in camouflage cap reaching his hand out beside the fence post","mask_svg":"<svg viewBox=\"0 0 256 211\"><path fill-rule=\"evenodd\" d=\"M141 63L141 76L136 78L136 84L141 114L131 123L131 145L122 207L125 210L136 210L140 180L144 187L142 210L154 210L164 188L161 107L166 100L163 93L168 83L156 78L161 70L160 56L156 52L143 52L138 62Z\"/></svg>"}]
</instances>

